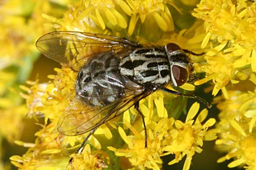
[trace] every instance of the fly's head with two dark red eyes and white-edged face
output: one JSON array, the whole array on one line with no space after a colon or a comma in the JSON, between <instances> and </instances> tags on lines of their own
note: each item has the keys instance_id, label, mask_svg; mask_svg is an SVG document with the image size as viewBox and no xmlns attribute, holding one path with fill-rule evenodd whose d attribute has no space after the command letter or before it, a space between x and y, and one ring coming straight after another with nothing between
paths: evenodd
<instances>
[{"instance_id":1,"label":"fly's head with two dark red eyes and white-edged face","mask_svg":"<svg viewBox=\"0 0 256 170\"><path fill-rule=\"evenodd\" d=\"M192 74L192 60L185 53L195 54L192 51L184 50L175 43L164 45L166 55L170 62L171 80L173 86L181 86L186 82L192 82L196 77Z\"/></svg>"}]
</instances>

